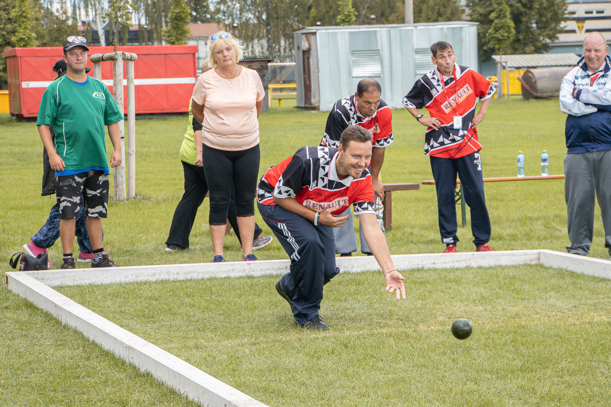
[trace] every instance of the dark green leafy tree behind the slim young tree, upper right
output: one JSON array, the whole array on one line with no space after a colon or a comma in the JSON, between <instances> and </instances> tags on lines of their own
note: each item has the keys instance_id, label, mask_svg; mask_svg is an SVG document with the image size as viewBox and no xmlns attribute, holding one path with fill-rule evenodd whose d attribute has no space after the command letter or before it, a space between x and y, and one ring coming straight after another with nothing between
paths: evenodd
<instances>
[{"instance_id":1,"label":"dark green leafy tree behind the slim young tree, upper right","mask_svg":"<svg viewBox=\"0 0 611 407\"><path fill-rule=\"evenodd\" d=\"M494 45L488 38L492 27L494 0L467 0L469 17L480 23L477 42L480 61L488 62L494 53ZM503 47L505 54L536 54L549 51L549 42L558 40L566 21L565 0L511 0L508 4L516 34L513 41Z\"/></svg>"}]
</instances>

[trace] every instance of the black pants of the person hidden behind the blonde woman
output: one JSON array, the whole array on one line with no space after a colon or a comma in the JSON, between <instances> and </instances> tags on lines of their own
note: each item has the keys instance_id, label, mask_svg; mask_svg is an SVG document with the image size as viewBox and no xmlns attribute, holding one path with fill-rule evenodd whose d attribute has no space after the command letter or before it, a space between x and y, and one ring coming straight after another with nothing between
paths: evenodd
<instances>
[{"instance_id":1,"label":"black pants of the person hidden behind the blonde woman","mask_svg":"<svg viewBox=\"0 0 611 407\"><path fill-rule=\"evenodd\" d=\"M193 222L195 222L197 209L202 205L203 199L208 193L208 184L206 183L206 176L203 173L202 167L185 163L185 161L180 162L183 164L183 169L185 171L185 193L174 211L172 226L170 226L170 234L167 237L166 244L176 244L177 246L188 248L189 235L191 234ZM233 200L231 204L229 204L227 218L235 231L235 237L238 238L241 244L240 228L238 227L238 219L236 218ZM256 239L261 232L263 232L263 230L255 223L254 239ZM87 235L87 233L85 234ZM89 237L87 237L87 241L89 241ZM40 244L38 244L38 246L40 246Z\"/></svg>"}]
</instances>

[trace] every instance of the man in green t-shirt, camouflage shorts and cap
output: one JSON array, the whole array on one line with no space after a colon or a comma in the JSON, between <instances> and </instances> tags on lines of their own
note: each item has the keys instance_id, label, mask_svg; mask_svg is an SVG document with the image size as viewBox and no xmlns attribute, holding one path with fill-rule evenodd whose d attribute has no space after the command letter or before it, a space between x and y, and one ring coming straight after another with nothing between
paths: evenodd
<instances>
[{"instance_id":1,"label":"man in green t-shirt, camouflage shorts and cap","mask_svg":"<svg viewBox=\"0 0 611 407\"><path fill-rule=\"evenodd\" d=\"M55 171L59 235L64 249L62 269L75 268L72 254L79 208L87 211L87 233L93 248L92 267L116 267L104 254L102 218L108 209L108 175L104 126L114 152L111 167L121 165L119 122L123 114L104 83L87 76L87 40L68 37L64 45L67 73L45 90L38 110L38 133ZM51 139L49 125L56 132ZM82 194L82 197L81 197ZM84 201L84 202L83 202Z\"/></svg>"}]
</instances>

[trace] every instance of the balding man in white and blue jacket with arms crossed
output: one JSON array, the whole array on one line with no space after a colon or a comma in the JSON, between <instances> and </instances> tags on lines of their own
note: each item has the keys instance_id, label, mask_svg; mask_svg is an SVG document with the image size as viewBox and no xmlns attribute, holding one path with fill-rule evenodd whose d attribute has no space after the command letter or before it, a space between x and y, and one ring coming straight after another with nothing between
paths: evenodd
<instances>
[{"instance_id":1,"label":"balding man in white and blue jacket with arms crossed","mask_svg":"<svg viewBox=\"0 0 611 407\"><path fill-rule=\"evenodd\" d=\"M611 254L611 59L607 40L592 32L584 57L560 87L566 118L565 200L569 253L588 255L594 229L595 197L601 208L605 247Z\"/></svg>"}]
</instances>

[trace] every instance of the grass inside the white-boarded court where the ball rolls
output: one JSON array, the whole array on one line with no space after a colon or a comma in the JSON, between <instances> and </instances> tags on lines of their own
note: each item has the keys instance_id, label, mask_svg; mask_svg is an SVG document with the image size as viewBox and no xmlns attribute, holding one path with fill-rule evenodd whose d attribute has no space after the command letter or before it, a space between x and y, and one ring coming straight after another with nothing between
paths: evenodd
<instances>
[{"instance_id":1,"label":"grass inside the white-boarded court where the ball rolls","mask_svg":"<svg viewBox=\"0 0 611 407\"><path fill-rule=\"evenodd\" d=\"M611 281L543 266L381 273L325 287L328 332L297 329L278 276L62 287L269 406L598 406L611 392ZM474 333L454 339L467 317Z\"/></svg>"}]
</instances>

